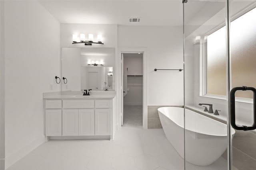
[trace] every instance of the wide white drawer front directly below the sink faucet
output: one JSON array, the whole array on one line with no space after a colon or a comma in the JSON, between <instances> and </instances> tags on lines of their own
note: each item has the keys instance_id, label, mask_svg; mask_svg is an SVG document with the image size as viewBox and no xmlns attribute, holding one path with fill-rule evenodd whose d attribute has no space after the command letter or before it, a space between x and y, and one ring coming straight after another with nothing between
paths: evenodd
<instances>
[{"instance_id":1,"label":"wide white drawer front directly below the sink faucet","mask_svg":"<svg viewBox=\"0 0 256 170\"><path fill-rule=\"evenodd\" d=\"M63 108L94 108L94 100L63 100Z\"/></svg>"}]
</instances>

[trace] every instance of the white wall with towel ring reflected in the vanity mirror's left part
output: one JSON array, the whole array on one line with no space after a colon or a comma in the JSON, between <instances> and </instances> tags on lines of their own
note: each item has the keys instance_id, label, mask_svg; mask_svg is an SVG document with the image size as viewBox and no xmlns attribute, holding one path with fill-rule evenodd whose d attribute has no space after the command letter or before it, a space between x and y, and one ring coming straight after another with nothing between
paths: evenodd
<instances>
[{"instance_id":1,"label":"white wall with towel ring reflected in the vanity mirror's left part","mask_svg":"<svg viewBox=\"0 0 256 170\"><path fill-rule=\"evenodd\" d=\"M62 90L81 90L81 50L80 48L62 48ZM66 82L66 80L65 80Z\"/></svg>"}]
</instances>

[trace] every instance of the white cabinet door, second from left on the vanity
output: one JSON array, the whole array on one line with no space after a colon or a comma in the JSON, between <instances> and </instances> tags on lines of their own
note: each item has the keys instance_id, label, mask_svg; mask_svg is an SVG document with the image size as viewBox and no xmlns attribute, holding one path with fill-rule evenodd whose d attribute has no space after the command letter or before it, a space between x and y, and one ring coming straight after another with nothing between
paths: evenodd
<instances>
[{"instance_id":1,"label":"white cabinet door, second from left on the vanity","mask_svg":"<svg viewBox=\"0 0 256 170\"><path fill-rule=\"evenodd\" d=\"M78 109L63 109L62 111L62 135L78 135Z\"/></svg>"}]
</instances>

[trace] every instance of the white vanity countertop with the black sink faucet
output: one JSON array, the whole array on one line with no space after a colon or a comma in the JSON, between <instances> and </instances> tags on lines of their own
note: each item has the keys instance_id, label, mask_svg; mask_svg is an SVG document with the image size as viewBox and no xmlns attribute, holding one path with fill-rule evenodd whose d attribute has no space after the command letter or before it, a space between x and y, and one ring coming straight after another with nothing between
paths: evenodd
<instances>
[{"instance_id":1,"label":"white vanity countertop with the black sink faucet","mask_svg":"<svg viewBox=\"0 0 256 170\"><path fill-rule=\"evenodd\" d=\"M90 96L83 96L81 92L75 92L72 94L70 93L71 92L65 93L65 94L61 94L58 92L45 93L43 95L43 98L45 100L90 100L90 99L112 99L116 97L116 92L109 92L109 93L96 92L94 94L91 94Z\"/></svg>"}]
</instances>

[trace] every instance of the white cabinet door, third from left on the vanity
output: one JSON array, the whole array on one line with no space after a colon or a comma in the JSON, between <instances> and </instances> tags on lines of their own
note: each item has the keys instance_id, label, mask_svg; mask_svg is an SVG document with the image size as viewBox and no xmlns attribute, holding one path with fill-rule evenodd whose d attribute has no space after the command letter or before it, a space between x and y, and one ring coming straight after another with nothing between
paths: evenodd
<instances>
[{"instance_id":1,"label":"white cabinet door, third from left on the vanity","mask_svg":"<svg viewBox=\"0 0 256 170\"><path fill-rule=\"evenodd\" d=\"M78 135L94 135L94 109L78 110Z\"/></svg>"}]
</instances>

